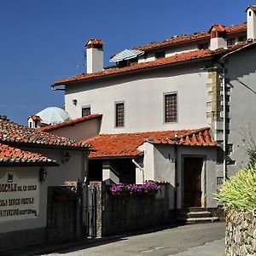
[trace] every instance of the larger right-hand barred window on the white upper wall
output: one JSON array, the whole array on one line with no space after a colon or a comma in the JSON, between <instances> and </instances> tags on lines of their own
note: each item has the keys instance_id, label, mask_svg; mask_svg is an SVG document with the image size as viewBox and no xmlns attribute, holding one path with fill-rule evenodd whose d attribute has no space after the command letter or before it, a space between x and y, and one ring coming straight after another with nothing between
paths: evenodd
<instances>
[{"instance_id":1,"label":"larger right-hand barred window on the white upper wall","mask_svg":"<svg viewBox=\"0 0 256 256\"><path fill-rule=\"evenodd\" d=\"M165 122L177 122L177 93L165 95Z\"/></svg>"}]
</instances>

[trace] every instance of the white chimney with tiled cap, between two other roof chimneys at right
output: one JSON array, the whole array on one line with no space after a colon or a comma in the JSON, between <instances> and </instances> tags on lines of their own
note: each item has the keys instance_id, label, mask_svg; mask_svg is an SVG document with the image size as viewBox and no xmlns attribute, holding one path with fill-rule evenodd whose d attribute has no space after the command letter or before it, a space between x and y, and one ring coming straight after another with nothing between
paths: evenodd
<instances>
[{"instance_id":1,"label":"white chimney with tiled cap, between two other roof chimneys at right","mask_svg":"<svg viewBox=\"0 0 256 256\"><path fill-rule=\"evenodd\" d=\"M220 24L213 24L208 31L211 34L210 49L227 48L227 33L225 27Z\"/></svg>"}]
</instances>

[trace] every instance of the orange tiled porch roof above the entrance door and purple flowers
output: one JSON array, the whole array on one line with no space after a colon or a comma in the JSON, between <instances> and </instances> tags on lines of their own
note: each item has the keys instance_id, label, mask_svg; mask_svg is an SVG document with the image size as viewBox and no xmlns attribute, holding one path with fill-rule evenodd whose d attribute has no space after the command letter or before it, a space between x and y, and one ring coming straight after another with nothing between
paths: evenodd
<instances>
[{"instance_id":1,"label":"orange tiled porch roof above the entrance door and purple flowers","mask_svg":"<svg viewBox=\"0 0 256 256\"><path fill-rule=\"evenodd\" d=\"M177 139L175 135L177 134ZM145 142L185 146L217 146L212 142L210 128L182 131L148 131L138 133L98 134L83 140L95 148L90 158L127 157L143 154L137 148Z\"/></svg>"}]
</instances>

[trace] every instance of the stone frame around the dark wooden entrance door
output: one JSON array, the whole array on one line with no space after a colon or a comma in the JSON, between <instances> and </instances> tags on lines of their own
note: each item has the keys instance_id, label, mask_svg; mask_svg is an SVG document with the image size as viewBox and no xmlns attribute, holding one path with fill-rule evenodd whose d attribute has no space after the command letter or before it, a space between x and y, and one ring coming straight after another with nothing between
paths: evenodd
<instances>
[{"instance_id":1,"label":"stone frame around the dark wooden entrance door","mask_svg":"<svg viewBox=\"0 0 256 256\"><path fill-rule=\"evenodd\" d=\"M181 155L181 207L184 207L184 159L201 158L201 207L207 207L207 156L205 154L182 154Z\"/></svg>"}]
</instances>

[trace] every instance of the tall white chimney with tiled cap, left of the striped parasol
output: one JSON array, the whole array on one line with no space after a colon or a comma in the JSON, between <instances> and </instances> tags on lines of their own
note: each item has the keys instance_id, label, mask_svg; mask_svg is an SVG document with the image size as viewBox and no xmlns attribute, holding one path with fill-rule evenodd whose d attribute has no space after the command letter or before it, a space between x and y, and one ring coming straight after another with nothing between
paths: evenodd
<instances>
[{"instance_id":1,"label":"tall white chimney with tiled cap, left of the striped parasol","mask_svg":"<svg viewBox=\"0 0 256 256\"><path fill-rule=\"evenodd\" d=\"M87 73L96 73L103 70L103 44L100 39L91 38L85 44Z\"/></svg>"}]
</instances>

